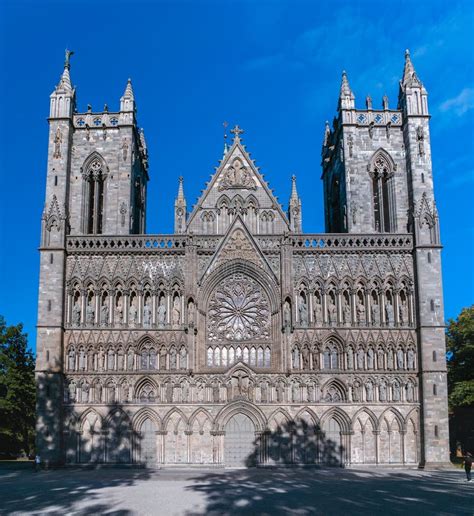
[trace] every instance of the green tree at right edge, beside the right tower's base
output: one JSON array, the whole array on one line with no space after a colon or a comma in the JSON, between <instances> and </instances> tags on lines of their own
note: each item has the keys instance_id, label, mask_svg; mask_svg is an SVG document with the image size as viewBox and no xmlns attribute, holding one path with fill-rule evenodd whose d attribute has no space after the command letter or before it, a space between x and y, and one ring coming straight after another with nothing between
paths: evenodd
<instances>
[{"instance_id":1,"label":"green tree at right edge, beside the right tower's base","mask_svg":"<svg viewBox=\"0 0 474 516\"><path fill-rule=\"evenodd\" d=\"M474 406L474 305L449 321L446 338L453 353L448 362L449 406Z\"/></svg>"}]
</instances>

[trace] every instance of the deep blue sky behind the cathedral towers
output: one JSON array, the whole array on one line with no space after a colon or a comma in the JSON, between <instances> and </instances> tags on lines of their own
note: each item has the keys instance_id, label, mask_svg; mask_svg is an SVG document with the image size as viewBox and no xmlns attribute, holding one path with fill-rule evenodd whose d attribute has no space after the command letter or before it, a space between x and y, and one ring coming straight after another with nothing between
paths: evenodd
<instances>
[{"instance_id":1,"label":"deep blue sky behind the cathedral towers","mask_svg":"<svg viewBox=\"0 0 474 516\"><path fill-rule=\"evenodd\" d=\"M473 302L472 0L0 2L0 313L35 342L37 247L49 95L64 49L78 109L118 108L128 77L150 152L148 232L172 231L177 178L191 206L222 154L222 122L286 204L298 177L303 229L323 232L320 150L341 71L356 105L395 106L405 48L429 93L446 316Z\"/></svg>"}]
</instances>

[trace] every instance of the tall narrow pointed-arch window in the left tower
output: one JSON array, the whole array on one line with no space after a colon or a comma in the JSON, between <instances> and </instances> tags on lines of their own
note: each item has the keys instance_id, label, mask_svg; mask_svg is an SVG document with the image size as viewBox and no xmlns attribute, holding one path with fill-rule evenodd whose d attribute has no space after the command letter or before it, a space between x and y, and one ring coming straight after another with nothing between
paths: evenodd
<instances>
[{"instance_id":1,"label":"tall narrow pointed-arch window in the left tower","mask_svg":"<svg viewBox=\"0 0 474 516\"><path fill-rule=\"evenodd\" d=\"M103 229L106 170L99 156L89 160L82 177L84 178L84 233L100 235Z\"/></svg>"}]
</instances>

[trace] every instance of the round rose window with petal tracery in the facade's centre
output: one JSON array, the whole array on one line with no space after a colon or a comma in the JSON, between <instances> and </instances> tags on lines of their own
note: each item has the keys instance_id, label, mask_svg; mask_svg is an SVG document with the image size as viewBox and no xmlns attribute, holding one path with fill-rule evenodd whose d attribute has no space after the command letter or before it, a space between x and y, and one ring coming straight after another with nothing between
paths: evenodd
<instances>
[{"instance_id":1,"label":"round rose window with petal tracery in the facade's centre","mask_svg":"<svg viewBox=\"0 0 474 516\"><path fill-rule=\"evenodd\" d=\"M207 332L209 340L268 339L270 310L260 285L234 274L222 281L209 301Z\"/></svg>"}]
</instances>

